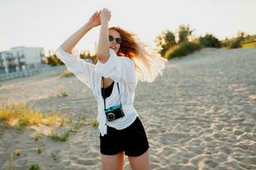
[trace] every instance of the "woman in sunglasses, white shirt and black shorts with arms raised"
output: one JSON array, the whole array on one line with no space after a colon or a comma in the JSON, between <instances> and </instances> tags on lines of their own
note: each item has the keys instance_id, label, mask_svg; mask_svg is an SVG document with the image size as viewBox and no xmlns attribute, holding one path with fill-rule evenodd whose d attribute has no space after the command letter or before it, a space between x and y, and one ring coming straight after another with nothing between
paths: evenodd
<instances>
[{"instance_id":1,"label":"woman in sunglasses, white shirt and black shorts with arms raised","mask_svg":"<svg viewBox=\"0 0 256 170\"><path fill-rule=\"evenodd\" d=\"M84 82L98 103L103 169L122 169L124 155L132 169L149 169L149 145L143 124L133 107L138 80L153 82L166 59L119 27L108 28L110 11L103 8L56 50L67 69ZM73 48L90 31L101 26L96 65L79 58Z\"/></svg>"}]
</instances>

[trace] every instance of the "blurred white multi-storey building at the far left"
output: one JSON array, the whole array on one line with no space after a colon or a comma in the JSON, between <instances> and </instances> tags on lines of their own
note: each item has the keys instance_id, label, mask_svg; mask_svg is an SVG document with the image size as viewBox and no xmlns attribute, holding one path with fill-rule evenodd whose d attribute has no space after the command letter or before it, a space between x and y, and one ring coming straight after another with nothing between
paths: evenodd
<instances>
[{"instance_id":1,"label":"blurred white multi-storey building at the far left","mask_svg":"<svg viewBox=\"0 0 256 170\"><path fill-rule=\"evenodd\" d=\"M0 52L0 74L41 68L43 58L44 48L15 47Z\"/></svg>"}]
</instances>

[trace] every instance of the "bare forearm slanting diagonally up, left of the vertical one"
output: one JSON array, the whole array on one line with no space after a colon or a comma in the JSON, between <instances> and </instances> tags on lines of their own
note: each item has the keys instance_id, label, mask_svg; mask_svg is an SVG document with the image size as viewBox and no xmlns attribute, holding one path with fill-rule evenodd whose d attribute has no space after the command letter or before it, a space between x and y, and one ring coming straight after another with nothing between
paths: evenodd
<instances>
[{"instance_id":1,"label":"bare forearm slanting diagonally up, left of the vertical one","mask_svg":"<svg viewBox=\"0 0 256 170\"><path fill-rule=\"evenodd\" d=\"M80 41L84 35L90 31L91 28L100 26L101 25L101 19L100 14L98 12L92 14L90 17L90 20L84 24L78 31L73 33L71 37L68 37L65 42L61 44L61 48L68 54L72 54L72 50L75 47L75 45Z\"/></svg>"}]
</instances>

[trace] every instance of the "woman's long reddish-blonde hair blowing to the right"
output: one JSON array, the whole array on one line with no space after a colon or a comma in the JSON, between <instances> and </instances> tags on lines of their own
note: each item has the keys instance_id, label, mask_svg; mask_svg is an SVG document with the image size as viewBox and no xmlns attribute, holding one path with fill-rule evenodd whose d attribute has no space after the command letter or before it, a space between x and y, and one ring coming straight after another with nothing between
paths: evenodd
<instances>
[{"instance_id":1,"label":"woman's long reddish-blonde hair blowing to the right","mask_svg":"<svg viewBox=\"0 0 256 170\"><path fill-rule=\"evenodd\" d=\"M135 64L137 77L142 82L154 82L155 77L162 75L167 59L158 54L157 49L141 42L139 37L131 31L125 31L119 26L108 30L118 31L123 42L118 55L129 57Z\"/></svg>"}]
</instances>

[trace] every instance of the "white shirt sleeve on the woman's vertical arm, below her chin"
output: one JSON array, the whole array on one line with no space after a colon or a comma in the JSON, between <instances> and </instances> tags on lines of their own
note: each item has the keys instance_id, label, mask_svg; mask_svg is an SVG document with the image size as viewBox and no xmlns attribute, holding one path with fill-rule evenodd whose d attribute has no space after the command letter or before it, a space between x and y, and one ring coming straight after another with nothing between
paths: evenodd
<instances>
[{"instance_id":1,"label":"white shirt sleeve on the woman's vertical arm, below her chin","mask_svg":"<svg viewBox=\"0 0 256 170\"><path fill-rule=\"evenodd\" d=\"M110 77L115 82L135 83L135 65L131 59L119 57L112 48L109 49L109 58L105 63L97 62L95 71L102 77Z\"/></svg>"}]
</instances>

